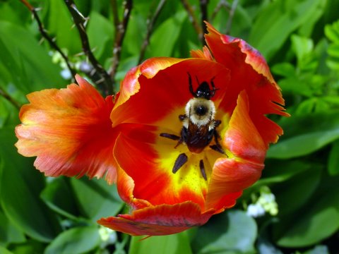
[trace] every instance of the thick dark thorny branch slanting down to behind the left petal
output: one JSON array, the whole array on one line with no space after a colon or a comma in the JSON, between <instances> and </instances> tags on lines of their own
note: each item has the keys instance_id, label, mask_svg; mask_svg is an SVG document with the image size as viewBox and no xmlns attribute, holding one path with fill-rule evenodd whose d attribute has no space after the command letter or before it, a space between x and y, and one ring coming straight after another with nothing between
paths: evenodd
<instances>
[{"instance_id":1,"label":"thick dark thorny branch slanting down to behind the left petal","mask_svg":"<svg viewBox=\"0 0 339 254\"><path fill-rule=\"evenodd\" d=\"M81 44L83 47L83 52L88 57L88 60L92 64L94 68L94 73L90 78L93 80L93 77L95 77L94 74L99 74L100 79L93 80L95 84L97 85L98 89L101 90L103 95L110 95L113 93L113 84L112 80L109 77L109 74L107 71L105 71L105 68L103 68L99 61L95 58L92 50L90 49L90 42L88 40L88 35L85 31L85 25L88 21L88 18L85 18L83 14L78 11L78 8L76 8L76 4L74 4L73 0L64 0L67 8L69 8L69 12L71 13L71 16L73 18L73 22L76 25L76 28L78 29L80 38L81 38Z\"/></svg>"}]
</instances>

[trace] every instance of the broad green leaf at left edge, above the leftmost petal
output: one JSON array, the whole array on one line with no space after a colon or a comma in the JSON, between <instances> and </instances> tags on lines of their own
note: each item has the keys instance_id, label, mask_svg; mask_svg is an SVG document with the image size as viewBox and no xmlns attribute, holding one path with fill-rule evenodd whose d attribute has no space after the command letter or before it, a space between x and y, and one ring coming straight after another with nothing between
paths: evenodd
<instances>
[{"instance_id":1,"label":"broad green leaf at left edge, above the leftmost petal","mask_svg":"<svg viewBox=\"0 0 339 254\"><path fill-rule=\"evenodd\" d=\"M0 84L8 93L26 94L65 84L59 75L61 68L28 30L0 21L0 35Z\"/></svg>"}]
</instances>

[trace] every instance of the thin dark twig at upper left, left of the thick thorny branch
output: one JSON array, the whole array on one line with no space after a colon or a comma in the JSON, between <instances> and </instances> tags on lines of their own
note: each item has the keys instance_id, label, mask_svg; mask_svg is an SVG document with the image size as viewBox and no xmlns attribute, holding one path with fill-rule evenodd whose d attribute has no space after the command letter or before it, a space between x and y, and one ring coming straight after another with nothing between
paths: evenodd
<instances>
[{"instance_id":1,"label":"thin dark twig at upper left, left of the thick thorny branch","mask_svg":"<svg viewBox=\"0 0 339 254\"><path fill-rule=\"evenodd\" d=\"M31 6L30 3L28 3L28 1L26 1L26 0L20 0L20 1L23 4L25 4L25 6L32 13L32 16L34 17L34 19L37 21L37 25L39 26L39 31L40 31L40 34L42 35L42 37L44 37L44 39L47 40L47 42L49 43L49 45L53 49L55 49L57 52L59 52L59 54L61 54L61 57L64 59L64 61L67 64L67 68L69 68L69 71L71 71L73 77L75 77L76 71L74 71L74 69L71 67L71 63L69 62L69 58L66 56L66 54L64 54L64 52L61 51L59 46L54 42L52 37L49 37L49 35L47 34L47 31L44 29L44 25L42 25L42 22L41 22L39 16L37 15L37 8L34 8L33 6Z\"/></svg>"}]
</instances>

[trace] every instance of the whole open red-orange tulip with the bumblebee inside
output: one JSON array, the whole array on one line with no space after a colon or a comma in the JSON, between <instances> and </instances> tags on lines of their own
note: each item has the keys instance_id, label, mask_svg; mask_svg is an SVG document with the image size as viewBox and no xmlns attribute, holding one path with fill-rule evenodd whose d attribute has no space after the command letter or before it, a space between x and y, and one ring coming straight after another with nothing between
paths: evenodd
<instances>
[{"instance_id":1,"label":"whole open red-orange tulip with the bumblebee inside","mask_svg":"<svg viewBox=\"0 0 339 254\"><path fill-rule=\"evenodd\" d=\"M130 213L98 223L133 236L175 234L234 206L283 134L266 115L288 114L263 56L207 26L208 47L132 68L114 103L80 78L28 95L19 152L47 175L116 181Z\"/></svg>"}]
</instances>

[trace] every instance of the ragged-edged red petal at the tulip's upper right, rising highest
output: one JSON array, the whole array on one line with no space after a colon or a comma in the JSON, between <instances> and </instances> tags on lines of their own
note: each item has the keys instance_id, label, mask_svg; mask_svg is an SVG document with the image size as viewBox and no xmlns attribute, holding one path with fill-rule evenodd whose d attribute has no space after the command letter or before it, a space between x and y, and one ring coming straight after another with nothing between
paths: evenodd
<instances>
[{"instance_id":1,"label":"ragged-edged red petal at the tulip's upper right, rising highest","mask_svg":"<svg viewBox=\"0 0 339 254\"><path fill-rule=\"evenodd\" d=\"M275 143L283 130L264 116L265 114L285 113L284 99L280 87L275 83L266 60L249 44L238 38L222 35L212 25L207 24L208 35L206 42L215 61L230 68L232 73L230 90L223 99L222 107L225 111L232 111L235 107L237 95L246 90L251 108L251 119L254 121L264 143ZM253 109L253 110L252 110Z\"/></svg>"}]
</instances>

